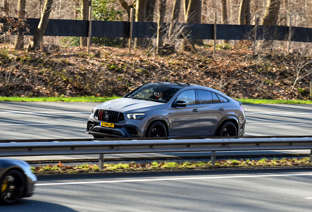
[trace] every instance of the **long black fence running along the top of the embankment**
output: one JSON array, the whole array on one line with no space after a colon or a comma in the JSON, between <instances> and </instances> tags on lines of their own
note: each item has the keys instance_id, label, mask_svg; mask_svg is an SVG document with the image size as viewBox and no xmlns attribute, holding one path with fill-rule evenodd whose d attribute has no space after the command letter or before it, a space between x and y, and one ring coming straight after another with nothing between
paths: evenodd
<instances>
[{"instance_id":1,"label":"long black fence running along the top of the embankment","mask_svg":"<svg viewBox=\"0 0 312 212\"><path fill-rule=\"evenodd\" d=\"M39 19L27 19L29 32L34 35ZM89 21L50 19L45 36L88 36ZM213 24L180 24L187 27L190 39L213 39ZM242 40L253 37L253 25L217 25L217 40ZM157 24L133 22L132 38L155 38ZM130 22L92 21L92 37L129 37ZM288 40L289 27L257 26L257 40ZM312 42L312 28L291 27L291 41Z\"/></svg>"}]
</instances>

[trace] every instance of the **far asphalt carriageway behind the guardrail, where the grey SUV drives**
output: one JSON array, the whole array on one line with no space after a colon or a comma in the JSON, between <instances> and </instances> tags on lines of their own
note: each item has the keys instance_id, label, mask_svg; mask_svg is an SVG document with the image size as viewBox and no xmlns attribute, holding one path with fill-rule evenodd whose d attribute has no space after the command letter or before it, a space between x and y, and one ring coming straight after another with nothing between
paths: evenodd
<instances>
[{"instance_id":1,"label":"far asphalt carriageway behind the guardrail, where the grey SUV drives","mask_svg":"<svg viewBox=\"0 0 312 212\"><path fill-rule=\"evenodd\" d=\"M0 102L0 139L85 138L86 122L94 106L99 103L63 102ZM243 104L246 115L245 135L311 135L312 105ZM284 151L285 152L285 151ZM275 153L284 154L282 151ZM310 154L310 151L287 153ZM210 153L200 153L210 156ZM231 155L243 153L226 153ZM245 152L244 154L250 155ZM260 153L263 154L263 153ZM199 153L188 153L198 156ZM217 153L220 155L220 153ZM185 154L146 154L145 157L185 156ZM94 156L53 156L50 159L98 159ZM105 156L106 157L106 156ZM142 155L114 157L142 157ZM19 158L26 159L26 158ZM31 160L27 158L26 160Z\"/></svg>"}]
</instances>

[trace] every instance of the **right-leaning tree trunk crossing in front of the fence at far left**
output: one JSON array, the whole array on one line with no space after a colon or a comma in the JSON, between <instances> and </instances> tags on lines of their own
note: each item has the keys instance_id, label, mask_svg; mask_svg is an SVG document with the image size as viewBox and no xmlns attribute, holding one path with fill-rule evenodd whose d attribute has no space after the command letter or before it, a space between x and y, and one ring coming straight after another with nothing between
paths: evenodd
<instances>
[{"instance_id":1,"label":"right-leaning tree trunk crossing in front of the fence at far left","mask_svg":"<svg viewBox=\"0 0 312 212\"><path fill-rule=\"evenodd\" d=\"M28 51L38 49L41 47L42 38L48 26L52 3L53 3L53 0L45 0L45 4L43 7L39 25L31 43L28 46Z\"/></svg>"}]
</instances>

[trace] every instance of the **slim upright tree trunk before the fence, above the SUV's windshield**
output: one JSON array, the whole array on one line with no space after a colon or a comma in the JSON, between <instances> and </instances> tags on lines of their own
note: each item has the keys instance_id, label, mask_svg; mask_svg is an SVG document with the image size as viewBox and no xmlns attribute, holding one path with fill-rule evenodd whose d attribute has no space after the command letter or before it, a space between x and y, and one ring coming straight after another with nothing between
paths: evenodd
<instances>
[{"instance_id":1,"label":"slim upright tree trunk before the fence, above the SUV's windshield","mask_svg":"<svg viewBox=\"0 0 312 212\"><path fill-rule=\"evenodd\" d=\"M166 14L166 0L159 0L159 17L157 21L157 54L164 55L163 51L163 32L164 32L164 19Z\"/></svg>"}]
</instances>

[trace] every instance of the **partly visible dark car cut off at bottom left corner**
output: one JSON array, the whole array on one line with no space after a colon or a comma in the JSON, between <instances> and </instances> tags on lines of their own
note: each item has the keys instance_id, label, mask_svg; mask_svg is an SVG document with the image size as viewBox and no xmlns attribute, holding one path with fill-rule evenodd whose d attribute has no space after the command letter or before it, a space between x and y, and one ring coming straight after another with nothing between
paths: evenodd
<instances>
[{"instance_id":1,"label":"partly visible dark car cut off at bottom left corner","mask_svg":"<svg viewBox=\"0 0 312 212\"><path fill-rule=\"evenodd\" d=\"M0 159L0 204L13 205L20 198L30 197L36 181L27 162Z\"/></svg>"}]
</instances>

